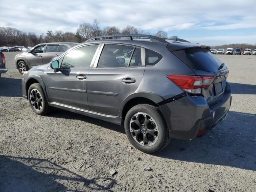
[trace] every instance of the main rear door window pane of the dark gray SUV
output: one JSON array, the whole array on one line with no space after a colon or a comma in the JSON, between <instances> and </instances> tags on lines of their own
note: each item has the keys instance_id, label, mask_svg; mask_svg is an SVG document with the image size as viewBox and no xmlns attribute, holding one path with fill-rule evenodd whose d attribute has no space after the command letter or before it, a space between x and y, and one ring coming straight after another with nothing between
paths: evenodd
<instances>
[{"instance_id":1,"label":"main rear door window pane of the dark gray SUV","mask_svg":"<svg viewBox=\"0 0 256 192\"><path fill-rule=\"evenodd\" d=\"M100 55L98 68L128 67L134 47L106 44Z\"/></svg>"}]
</instances>

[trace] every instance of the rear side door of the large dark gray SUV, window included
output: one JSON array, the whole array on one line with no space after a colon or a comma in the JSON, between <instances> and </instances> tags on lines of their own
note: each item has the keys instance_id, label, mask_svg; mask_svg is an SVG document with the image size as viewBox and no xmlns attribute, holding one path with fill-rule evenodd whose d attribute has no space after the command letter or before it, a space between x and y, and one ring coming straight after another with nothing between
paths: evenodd
<instances>
[{"instance_id":1,"label":"rear side door of the large dark gray SUV, window included","mask_svg":"<svg viewBox=\"0 0 256 192\"><path fill-rule=\"evenodd\" d=\"M144 48L104 44L88 74L90 110L117 116L123 100L136 92L145 70Z\"/></svg>"}]
</instances>

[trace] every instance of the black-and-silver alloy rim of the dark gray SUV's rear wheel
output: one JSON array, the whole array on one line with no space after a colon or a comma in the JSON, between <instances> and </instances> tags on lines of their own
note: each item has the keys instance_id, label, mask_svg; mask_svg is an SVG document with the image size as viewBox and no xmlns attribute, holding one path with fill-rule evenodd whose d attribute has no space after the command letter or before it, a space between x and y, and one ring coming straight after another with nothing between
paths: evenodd
<instances>
[{"instance_id":1,"label":"black-and-silver alloy rim of the dark gray SUV's rear wheel","mask_svg":"<svg viewBox=\"0 0 256 192\"><path fill-rule=\"evenodd\" d=\"M152 146L158 140L156 121L146 113L138 112L130 120L132 138L142 146Z\"/></svg>"}]
</instances>

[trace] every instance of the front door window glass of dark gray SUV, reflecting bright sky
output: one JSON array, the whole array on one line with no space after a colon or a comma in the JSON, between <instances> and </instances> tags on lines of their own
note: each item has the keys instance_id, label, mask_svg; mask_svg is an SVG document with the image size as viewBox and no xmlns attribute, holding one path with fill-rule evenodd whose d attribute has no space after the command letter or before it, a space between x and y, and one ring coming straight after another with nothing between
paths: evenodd
<instances>
[{"instance_id":1,"label":"front door window glass of dark gray SUV, reflecting bright sky","mask_svg":"<svg viewBox=\"0 0 256 192\"><path fill-rule=\"evenodd\" d=\"M66 54L60 68L89 68L99 45L77 48Z\"/></svg>"}]
</instances>

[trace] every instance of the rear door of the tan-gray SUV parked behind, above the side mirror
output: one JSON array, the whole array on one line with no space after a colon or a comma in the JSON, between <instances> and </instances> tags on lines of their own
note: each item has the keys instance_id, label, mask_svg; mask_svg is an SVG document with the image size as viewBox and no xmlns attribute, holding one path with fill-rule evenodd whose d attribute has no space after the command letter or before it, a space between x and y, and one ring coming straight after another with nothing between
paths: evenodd
<instances>
[{"instance_id":1,"label":"rear door of the tan-gray SUV parked behind, above the side mirror","mask_svg":"<svg viewBox=\"0 0 256 192\"><path fill-rule=\"evenodd\" d=\"M59 56L59 45L58 44L47 44L44 55L42 56L43 64L49 63L55 60Z\"/></svg>"}]
</instances>

